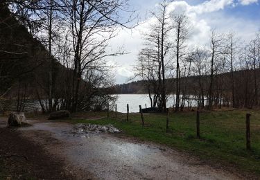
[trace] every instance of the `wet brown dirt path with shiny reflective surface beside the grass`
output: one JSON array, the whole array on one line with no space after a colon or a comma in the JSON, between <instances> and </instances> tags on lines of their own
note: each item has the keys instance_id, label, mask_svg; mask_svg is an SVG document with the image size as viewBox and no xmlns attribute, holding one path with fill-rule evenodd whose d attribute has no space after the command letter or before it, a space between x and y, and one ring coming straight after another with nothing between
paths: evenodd
<instances>
[{"instance_id":1,"label":"wet brown dirt path with shiny reflective surface beside the grass","mask_svg":"<svg viewBox=\"0 0 260 180\"><path fill-rule=\"evenodd\" d=\"M75 179L241 179L152 143L105 133L75 137L67 123L31 123L21 135L62 159Z\"/></svg>"}]
</instances>

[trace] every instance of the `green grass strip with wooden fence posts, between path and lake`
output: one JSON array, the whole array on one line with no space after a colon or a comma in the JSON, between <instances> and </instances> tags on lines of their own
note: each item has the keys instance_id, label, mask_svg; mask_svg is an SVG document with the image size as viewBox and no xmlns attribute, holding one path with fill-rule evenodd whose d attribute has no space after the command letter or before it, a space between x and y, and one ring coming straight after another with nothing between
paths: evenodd
<instances>
[{"instance_id":1,"label":"green grass strip with wooden fence posts, between path and lake","mask_svg":"<svg viewBox=\"0 0 260 180\"><path fill-rule=\"evenodd\" d=\"M245 149L245 114L251 116L252 150ZM139 114L125 114L119 118L100 120L67 120L70 123L112 124L125 136L143 141L161 143L177 150L189 152L214 163L234 165L243 172L260 175L260 112L214 111L200 114L200 136L196 138L196 112L170 114L169 131L166 133L165 114L144 114L145 127L141 127Z\"/></svg>"}]
</instances>

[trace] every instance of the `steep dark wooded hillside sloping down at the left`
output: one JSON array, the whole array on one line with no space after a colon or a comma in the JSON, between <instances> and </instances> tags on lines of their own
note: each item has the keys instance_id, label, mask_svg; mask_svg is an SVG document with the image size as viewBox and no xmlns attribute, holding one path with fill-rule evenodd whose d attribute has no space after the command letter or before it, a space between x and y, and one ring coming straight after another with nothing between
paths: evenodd
<instances>
[{"instance_id":1,"label":"steep dark wooded hillside sloping down at the left","mask_svg":"<svg viewBox=\"0 0 260 180\"><path fill-rule=\"evenodd\" d=\"M1 3L0 3L1 5ZM71 69L49 57L45 46L34 38L6 6L0 6L0 96L16 98L20 87L26 96L46 93L49 79L49 60L53 58L53 81L59 83L62 75L72 75ZM64 73L60 73L60 72ZM54 88L54 87L53 87Z\"/></svg>"}]
</instances>

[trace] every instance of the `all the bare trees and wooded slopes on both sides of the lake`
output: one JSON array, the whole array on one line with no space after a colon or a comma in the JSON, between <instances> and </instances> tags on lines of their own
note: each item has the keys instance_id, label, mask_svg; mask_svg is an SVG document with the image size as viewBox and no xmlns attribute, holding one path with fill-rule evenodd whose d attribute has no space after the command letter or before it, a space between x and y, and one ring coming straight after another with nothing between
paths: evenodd
<instances>
[{"instance_id":1,"label":"all the bare trees and wooded slopes on both sides of the lake","mask_svg":"<svg viewBox=\"0 0 260 180\"><path fill-rule=\"evenodd\" d=\"M189 44L193 27L184 12L168 12L168 1L150 11L153 22L143 35L130 84L115 85L107 57L119 28L138 26L123 0L21 1L0 4L0 99L38 100L42 112L68 109L101 111L113 93L148 93L151 107L175 111L258 107L260 33L247 42L236 32L211 30L208 43ZM121 18L121 12L128 18ZM136 25L132 25L136 24Z\"/></svg>"}]
</instances>

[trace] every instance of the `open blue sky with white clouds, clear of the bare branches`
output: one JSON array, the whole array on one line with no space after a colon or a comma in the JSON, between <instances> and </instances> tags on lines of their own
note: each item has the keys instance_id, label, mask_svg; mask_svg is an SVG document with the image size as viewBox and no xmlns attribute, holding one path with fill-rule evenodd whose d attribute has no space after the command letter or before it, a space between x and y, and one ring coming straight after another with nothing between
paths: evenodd
<instances>
[{"instance_id":1,"label":"open blue sky with white clouds, clear of the bare branches","mask_svg":"<svg viewBox=\"0 0 260 180\"><path fill-rule=\"evenodd\" d=\"M153 17L150 11L155 10L159 0L129 0L130 8L137 10L141 25L131 30L120 28L118 35L112 39L110 46L123 46L127 54L108 59L116 64L114 69L116 84L128 82L137 62L139 50L144 47L142 33L147 30ZM189 44L206 45L209 42L211 29L218 33L232 31L237 37L247 42L260 30L260 0L179 0L171 2L169 12L185 12L192 26Z\"/></svg>"}]
</instances>

